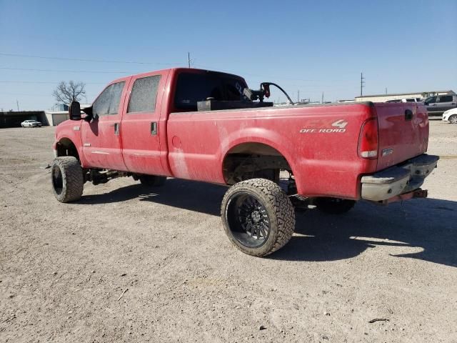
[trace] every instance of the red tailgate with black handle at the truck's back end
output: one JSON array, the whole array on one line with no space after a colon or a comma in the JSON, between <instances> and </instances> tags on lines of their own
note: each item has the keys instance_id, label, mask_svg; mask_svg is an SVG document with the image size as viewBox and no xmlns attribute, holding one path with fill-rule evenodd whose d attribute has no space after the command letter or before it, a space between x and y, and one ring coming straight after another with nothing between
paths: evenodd
<instances>
[{"instance_id":1,"label":"red tailgate with black handle at the truck's back end","mask_svg":"<svg viewBox=\"0 0 457 343\"><path fill-rule=\"evenodd\" d=\"M428 146L428 114L423 104L374 104L378 116L377 170L423 154Z\"/></svg>"}]
</instances>

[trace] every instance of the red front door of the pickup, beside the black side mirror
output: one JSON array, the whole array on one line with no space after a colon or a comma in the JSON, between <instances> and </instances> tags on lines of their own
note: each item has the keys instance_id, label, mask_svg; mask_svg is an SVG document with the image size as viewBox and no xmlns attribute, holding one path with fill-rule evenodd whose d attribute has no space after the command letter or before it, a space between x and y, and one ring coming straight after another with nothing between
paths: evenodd
<instances>
[{"instance_id":1,"label":"red front door of the pickup, beside the black side mirror","mask_svg":"<svg viewBox=\"0 0 457 343\"><path fill-rule=\"evenodd\" d=\"M126 171L121 151L121 116L129 79L104 89L92 104L94 119L82 121L84 157L91 167Z\"/></svg>"}]
</instances>

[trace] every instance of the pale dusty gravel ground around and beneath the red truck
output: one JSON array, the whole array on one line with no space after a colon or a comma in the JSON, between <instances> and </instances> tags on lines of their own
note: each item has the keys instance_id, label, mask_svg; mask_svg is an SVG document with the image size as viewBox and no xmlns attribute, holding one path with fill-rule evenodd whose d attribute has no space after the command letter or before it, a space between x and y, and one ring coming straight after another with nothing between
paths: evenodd
<instances>
[{"instance_id":1,"label":"pale dusty gravel ground around and beneath the red truck","mask_svg":"<svg viewBox=\"0 0 457 343\"><path fill-rule=\"evenodd\" d=\"M429 199L298 214L263 259L225 236L224 187L123 178L57 202L53 139L0 130L1 342L457 342L456 125L431 121Z\"/></svg>"}]
</instances>

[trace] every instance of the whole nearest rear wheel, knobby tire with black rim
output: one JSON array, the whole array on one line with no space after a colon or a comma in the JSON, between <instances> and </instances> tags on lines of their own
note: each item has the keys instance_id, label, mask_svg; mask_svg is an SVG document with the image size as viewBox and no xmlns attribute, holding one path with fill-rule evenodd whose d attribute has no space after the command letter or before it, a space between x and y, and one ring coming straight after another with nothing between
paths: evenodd
<instances>
[{"instance_id":1,"label":"whole nearest rear wheel, knobby tire with black rim","mask_svg":"<svg viewBox=\"0 0 457 343\"><path fill-rule=\"evenodd\" d=\"M295 229L291 200L267 179L249 179L230 187L222 199L221 217L235 247L257 257L283 247Z\"/></svg>"}]
</instances>

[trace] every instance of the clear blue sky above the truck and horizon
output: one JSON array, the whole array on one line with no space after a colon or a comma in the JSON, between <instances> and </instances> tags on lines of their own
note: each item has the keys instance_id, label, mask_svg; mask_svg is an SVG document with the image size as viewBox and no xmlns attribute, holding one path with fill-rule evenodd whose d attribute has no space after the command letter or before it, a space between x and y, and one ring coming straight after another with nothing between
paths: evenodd
<instances>
[{"instance_id":1,"label":"clear blue sky above the truck and horizon","mask_svg":"<svg viewBox=\"0 0 457 343\"><path fill-rule=\"evenodd\" d=\"M188 51L293 100L352 99L361 71L364 94L457 91L456 18L456 0L0 0L0 109L49 109L62 80L85 82L91 102L112 79L186 66Z\"/></svg>"}]
</instances>

